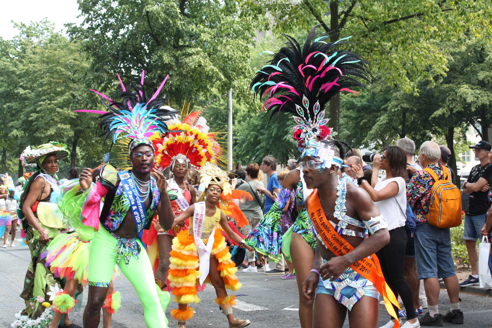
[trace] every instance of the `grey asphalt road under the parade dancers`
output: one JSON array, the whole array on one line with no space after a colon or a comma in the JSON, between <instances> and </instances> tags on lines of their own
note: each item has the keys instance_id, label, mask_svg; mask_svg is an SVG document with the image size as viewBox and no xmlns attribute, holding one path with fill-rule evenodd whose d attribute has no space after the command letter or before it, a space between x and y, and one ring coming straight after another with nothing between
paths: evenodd
<instances>
[{"instance_id":1,"label":"grey asphalt road under the parade dancers","mask_svg":"<svg viewBox=\"0 0 492 328\"><path fill-rule=\"evenodd\" d=\"M0 242L2 244L3 240ZM23 301L19 298L22 290L24 275L29 262L29 249L21 247L0 248L0 328L10 327L14 315L23 308ZM243 287L235 292L239 302L234 310L237 317L251 320L249 327L300 327L297 309L297 286L295 280L282 280L278 275L238 272ZM113 316L113 328L145 328L144 316L140 301L128 280L121 276L115 281L115 290L122 294L122 306ZM461 309L464 311L463 328L489 328L492 323L491 298L482 295L461 293ZM193 305L196 314L188 321L187 328L198 327L228 327L225 316L215 304L215 291L212 286L200 293L202 301ZM79 302L85 306L87 293ZM166 311L169 327L176 327L176 322L169 315L169 311L176 306L171 301ZM449 301L445 290L441 290L439 309L445 313L449 309ZM76 309L70 314L70 319L82 325L82 310ZM383 305L379 308L379 323L384 325L389 320ZM102 327L102 321L101 325ZM326 327L330 327L327 323ZM344 328L348 328L348 320ZM456 327L453 324L444 324L444 327ZM458 326L460 327L460 326Z\"/></svg>"}]
</instances>

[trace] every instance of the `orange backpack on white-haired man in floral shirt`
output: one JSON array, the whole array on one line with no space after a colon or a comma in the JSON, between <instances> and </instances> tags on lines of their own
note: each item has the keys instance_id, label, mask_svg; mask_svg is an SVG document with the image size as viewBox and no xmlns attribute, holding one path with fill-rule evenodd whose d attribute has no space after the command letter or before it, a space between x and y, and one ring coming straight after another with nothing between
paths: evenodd
<instances>
[{"instance_id":1,"label":"orange backpack on white-haired man in floral shirt","mask_svg":"<svg viewBox=\"0 0 492 328\"><path fill-rule=\"evenodd\" d=\"M443 179L430 168L424 171L434 179L431 191L431 205L427 221L437 228L453 228L461 224L461 191L451 182L447 167L442 166Z\"/></svg>"}]
</instances>

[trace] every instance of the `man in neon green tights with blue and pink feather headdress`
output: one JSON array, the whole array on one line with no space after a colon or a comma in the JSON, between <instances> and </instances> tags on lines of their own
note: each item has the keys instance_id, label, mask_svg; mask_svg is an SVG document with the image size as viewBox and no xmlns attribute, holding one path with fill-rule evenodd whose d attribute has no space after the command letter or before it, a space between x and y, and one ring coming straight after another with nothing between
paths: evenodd
<instances>
[{"instance_id":1,"label":"man in neon green tights with blue and pink feather headdress","mask_svg":"<svg viewBox=\"0 0 492 328\"><path fill-rule=\"evenodd\" d=\"M125 91L123 83L121 85ZM167 133L169 130L162 117L174 115L175 111L160 109L164 100L156 99L156 94L148 100L142 86L133 89L133 92L123 92L121 103L100 94L109 101L108 112L82 110L102 114L100 126L106 137L113 134L113 143L125 138L125 152L132 164L131 170L120 172L111 165L104 166L100 180L92 187L92 170L86 168L80 174L81 188L91 188L82 210L83 223L97 230L89 246L89 296L84 328L99 325L100 310L115 264L135 288L147 327L167 327L164 310L169 303L169 293L161 292L155 284L141 238L143 230L150 228L154 213L166 230L174 220L166 179L162 172L154 169L154 145L149 137L154 132ZM99 213L99 201L103 197L104 206Z\"/></svg>"}]
</instances>

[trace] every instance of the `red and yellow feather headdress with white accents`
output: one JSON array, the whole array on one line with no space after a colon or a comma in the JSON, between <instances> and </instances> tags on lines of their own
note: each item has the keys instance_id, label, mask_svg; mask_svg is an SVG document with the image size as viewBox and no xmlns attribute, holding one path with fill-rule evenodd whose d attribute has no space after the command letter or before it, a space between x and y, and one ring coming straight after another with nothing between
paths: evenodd
<instances>
[{"instance_id":1,"label":"red and yellow feather headdress with white accents","mask_svg":"<svg viewBox=\"0 0 492 328\"><path fill-rule=\"evenodd\" d=\"M186 116L184 106L182 121L179 118L167 121L170 133L167 135L154 133L151 141L155 149L155 162L159 168L165 169L171 166L172 170L175 163L179 162L198 169L207 162L215 164L221 160L221 149L215 140L215 133L210 132L207 120L201 116L203 111L219 98Z\"/></svg>"}]
</instances>

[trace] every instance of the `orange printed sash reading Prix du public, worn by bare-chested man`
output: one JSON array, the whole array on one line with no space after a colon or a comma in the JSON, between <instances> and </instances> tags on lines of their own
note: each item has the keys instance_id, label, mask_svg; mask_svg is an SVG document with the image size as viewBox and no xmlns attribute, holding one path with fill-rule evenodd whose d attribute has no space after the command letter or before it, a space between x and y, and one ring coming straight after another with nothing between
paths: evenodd
<instances>
[{"instance_id":1,"label":"orange printed sash reading Prix du public, worn by bare-chested man","mask_svg":"<svg viewBox=\"0 0 492 328\"><path fill-rule=\"evenodd\" d=\"M342 256L354 249L354 247L343 239L343 237L338 235L331 223L328 222L325 212L321 207L321 203L319 202L318 189L315 189L307 199L307 211L314 227L318 231L319 237L323 241L323 244L333 254ZM357 261L352 264L350 268L354 269L362 277L374 284L374 287L376 287L379 294L381 294L384 298L384 306L386 307L386 310L393 318L396 319L394 327L399 328L400 323L398 315L395 313L395 309L392 304L398 308L400 308L400 306L398 305L395 294L393 294L390 287L384 280L376 254L372 254L370 259L369 257L366 257Z\"/></svg>"}]
</instances>

